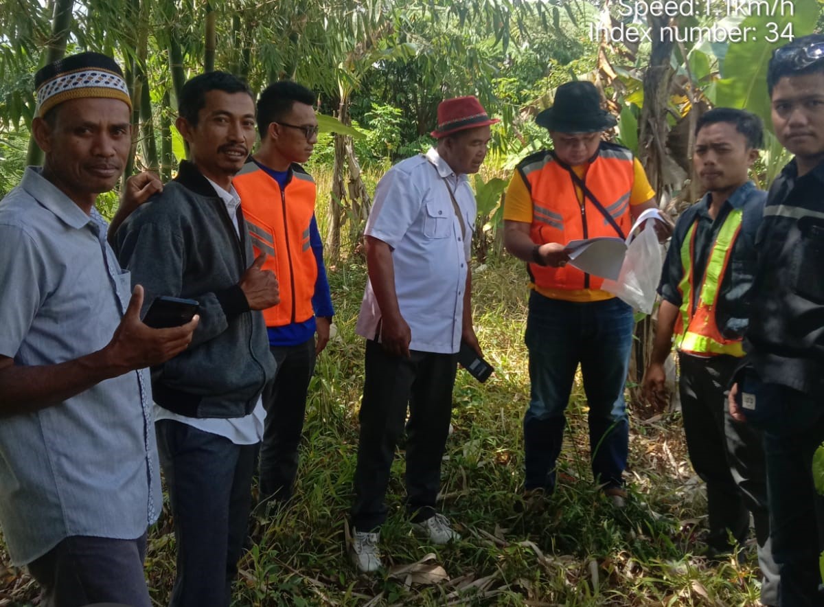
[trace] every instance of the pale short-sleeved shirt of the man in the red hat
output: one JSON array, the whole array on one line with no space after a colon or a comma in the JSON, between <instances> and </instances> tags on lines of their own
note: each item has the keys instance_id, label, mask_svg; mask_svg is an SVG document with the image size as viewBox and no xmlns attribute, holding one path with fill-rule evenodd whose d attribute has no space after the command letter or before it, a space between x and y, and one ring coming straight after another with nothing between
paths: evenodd
<instances>
[{"instance_id":1,"label":"pale short-sleeved shirt of the man in the red hat","mask_svg":"<svg viewBox=\"0 0 824 607\"><path fill-rule=\"evenodd\" d=\"M461 210L466 238L447 186ZM400 161L377 184L365 233L392 249L395 292L412 333L411 350L452 354L461 348L475 214L475 195L466 175L456 175L433 148ZM380 339L380 320L368 282L355 330L367 339Z\"/></svg>"}]
</instances>

